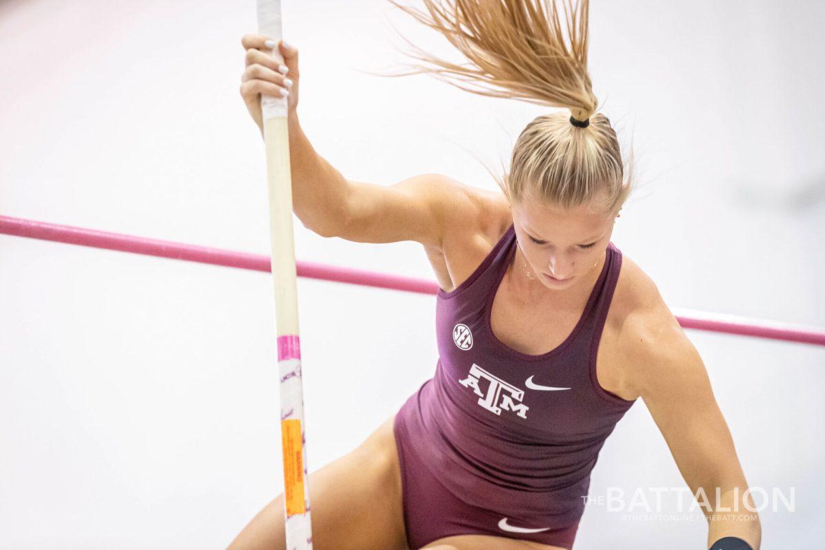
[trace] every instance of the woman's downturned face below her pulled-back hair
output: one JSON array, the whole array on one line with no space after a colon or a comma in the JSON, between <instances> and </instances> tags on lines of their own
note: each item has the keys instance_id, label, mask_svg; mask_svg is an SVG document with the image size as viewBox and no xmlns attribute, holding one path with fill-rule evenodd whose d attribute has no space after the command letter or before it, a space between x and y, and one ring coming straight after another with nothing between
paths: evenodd
<instances>
[{"instance_id":1,"label":"woman's downturned face below her pulled-back hair","mask_svg":"<svg viewBox=\"0 0 825 550\"><path fill-rule=\"evenodd\" d=\"M592 272L607 249L616 219L616 213L605 213L596 203L563 209L529 197L514 202L512 214L527 262L516 267L527 267L548 289L570 288Z\"/></svg>"}]
</instances>

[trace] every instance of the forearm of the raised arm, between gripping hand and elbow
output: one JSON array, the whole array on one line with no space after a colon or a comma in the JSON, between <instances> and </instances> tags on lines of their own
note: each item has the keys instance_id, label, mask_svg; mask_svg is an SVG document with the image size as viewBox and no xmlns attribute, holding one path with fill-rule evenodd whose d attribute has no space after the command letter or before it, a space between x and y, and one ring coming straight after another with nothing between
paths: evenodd
<instances>
[{"instance_id":1,"label":"forearm of the raised arm, between gripping hand and elbow","mask_svg":"<svg viewBox=\"0 0 825 550\"><path fill-rule=\"evenodd\" d=\"M337 235L347 222L347 179L315 152L295 112L288 120L292 208L304 227Z\"/></svg>"}]
</instances>

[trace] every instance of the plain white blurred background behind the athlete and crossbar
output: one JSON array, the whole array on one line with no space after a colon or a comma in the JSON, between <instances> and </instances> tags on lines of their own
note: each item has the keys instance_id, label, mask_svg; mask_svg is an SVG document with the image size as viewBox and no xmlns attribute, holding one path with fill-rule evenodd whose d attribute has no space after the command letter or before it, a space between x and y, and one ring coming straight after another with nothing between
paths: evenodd
<instances>
[{"instance_id":1,"label":"plain white blurred background behind the athlete and crossbar","mask_svg":"<svg viewBox=\"0 0 825 550\"><path fill-rule=\"evenodd\" d=\"M285 3L299 113L348 177L495 184L545 110L399 68L443 40L378 0ZM602 110L639 190L613 241L667 303L825 325L823 2L591 8ZM262 142L238 94L254 2L0 2L0 214L267 253ZM414 243L299 259L431 278ZM299 281L309 463L347 453L435 369L434 299ZM281 491L267 275L0 236L0 547L222 548ZM763 548L820 548L825 350L690 331L764 510ZM592 493L683 487L642 402ZM666 499L675 511L676 499ZM705 548L704 519L588 508L577 548Z\"/></svg>"}]
</instances>

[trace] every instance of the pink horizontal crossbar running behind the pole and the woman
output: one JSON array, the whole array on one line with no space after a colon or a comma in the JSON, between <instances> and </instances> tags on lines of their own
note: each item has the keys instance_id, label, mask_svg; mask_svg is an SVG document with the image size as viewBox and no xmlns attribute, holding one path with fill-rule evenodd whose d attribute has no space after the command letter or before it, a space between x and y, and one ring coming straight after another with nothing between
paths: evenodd
<instances>
[{"instance_id":1,"label":"pink horizontal crossbar running behind the pole and the woman","mask_svg":"<svg viewBox=\"0 0 825 550\"><path fill-rule=\"evenodd\" d=\"M77 228L31 219L0 216L0 233L29 237L44 241L65 242L83 247L106 248L174 260L196 261L214 266L238 267L243 270L270 271L269 256L220 248L200 247L181 242L135 237L123 233L108 233L95 229ZM295 262L299 277L331 280L339 283L361 284L381 289L404 290L420 294L436 294L438 284L426 279L389 275L348 267L327 266L309 261ZM825 346L825 329L802 327L787 323L735 317L720 313L676 311L681 327L700 331L723 332L771 340L802 342Z\"/></svg>"}]
</instances>

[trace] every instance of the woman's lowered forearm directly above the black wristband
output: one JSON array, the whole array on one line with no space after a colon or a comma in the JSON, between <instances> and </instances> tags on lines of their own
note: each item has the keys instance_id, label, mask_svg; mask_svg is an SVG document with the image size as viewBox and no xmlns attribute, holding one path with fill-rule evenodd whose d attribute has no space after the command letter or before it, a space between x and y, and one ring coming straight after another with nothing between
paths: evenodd
<instances>
[{"instance_id":1,"label":"woman's lowered forearm directly above the black wristband","mask_svg":"<svg viewBox=\"0 0 825 550\"><path fill-rule=\"evenodd\" d=\"M725 489L720 493L719 501L712 503L713 511L705 515L709 525L707 548L710 548L710 545L719 538L738 537L750 544L753 550L759 550L761 543L759 514L751 511L756 510L751 496L747 495L747 502L742 497L745 491L747 491L747 486ZM710 491L707 491L707 494L711 496Z\"/></svg>"}]
</instances>

